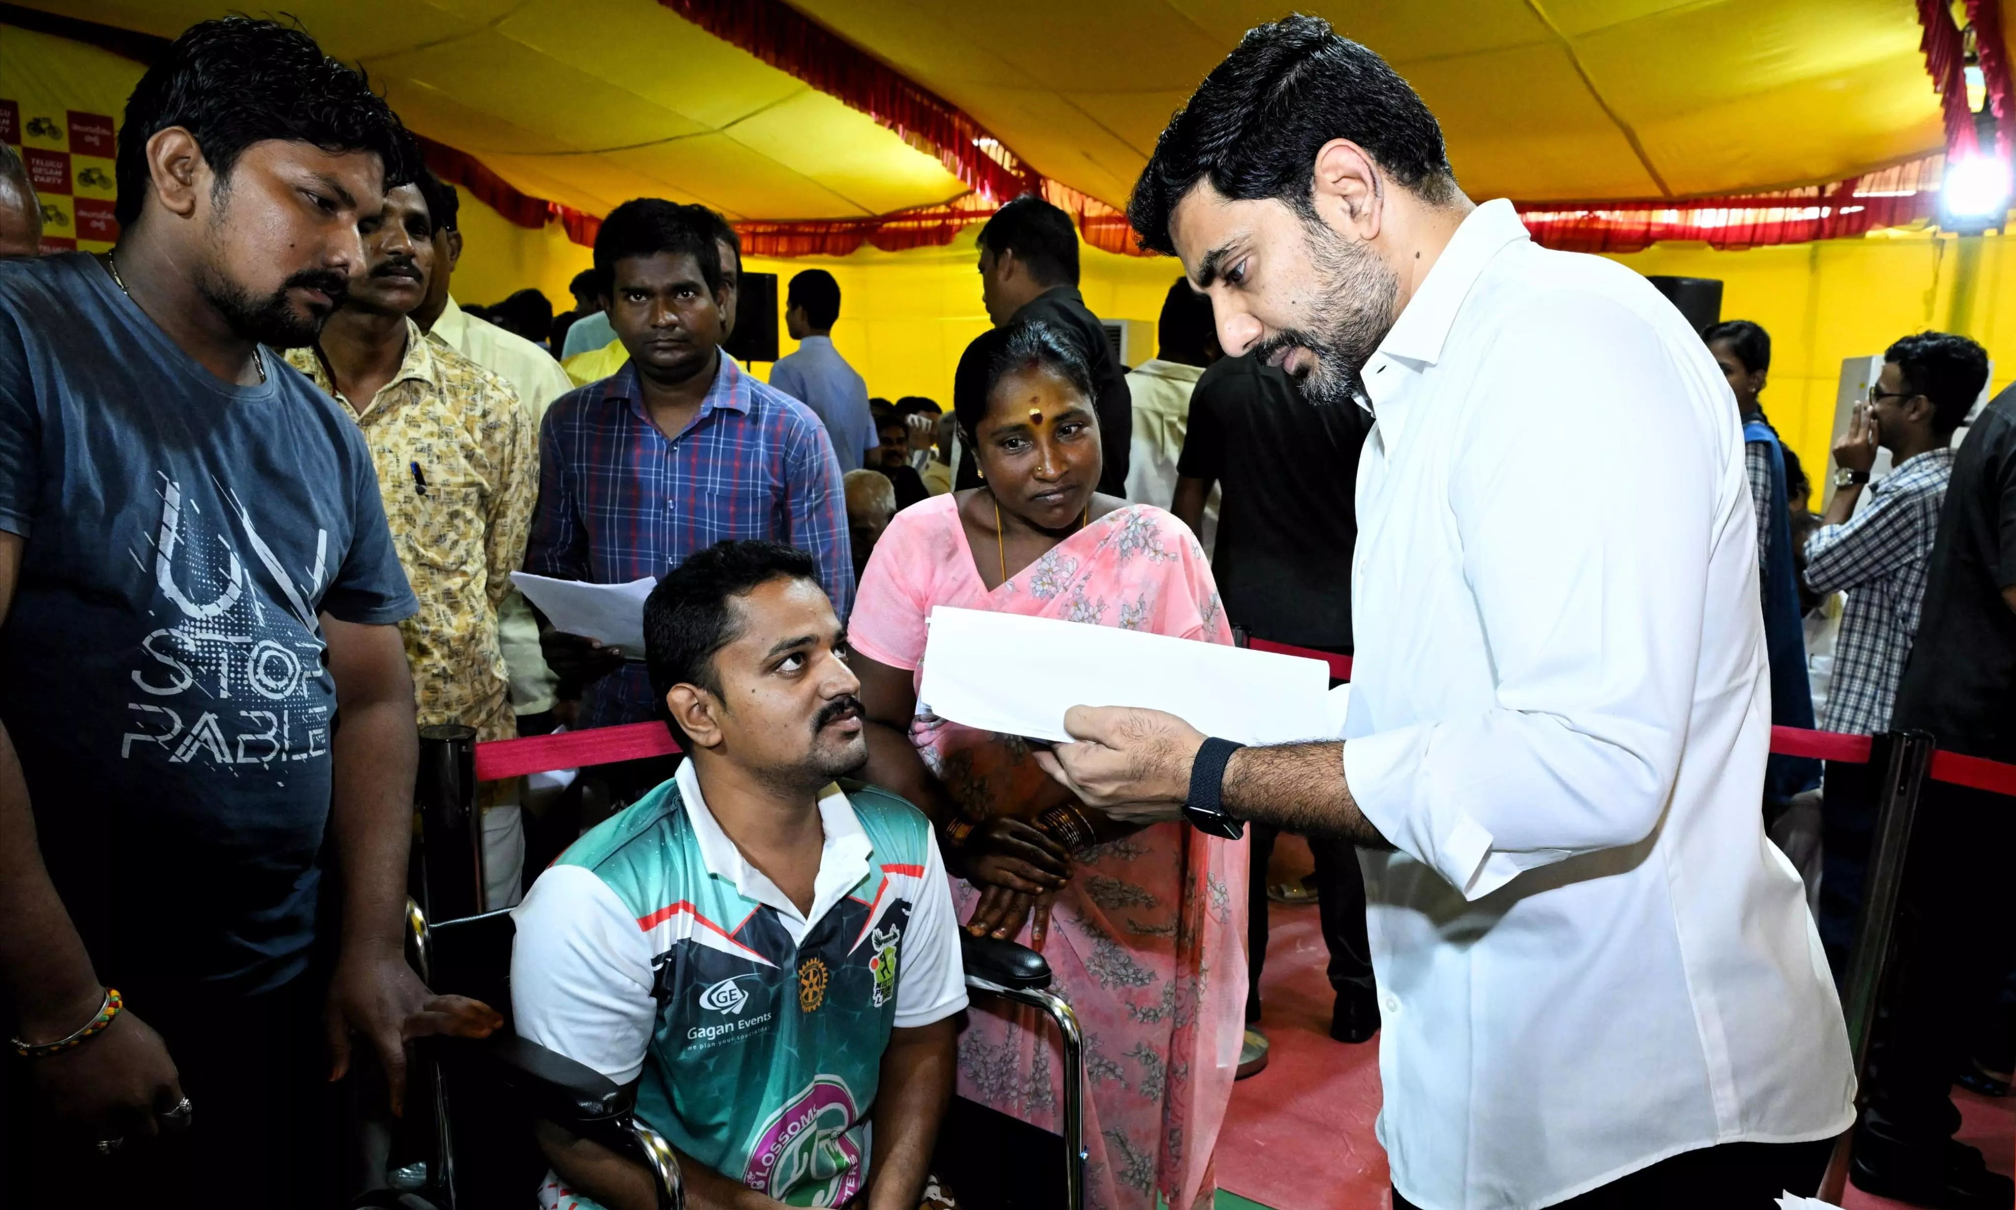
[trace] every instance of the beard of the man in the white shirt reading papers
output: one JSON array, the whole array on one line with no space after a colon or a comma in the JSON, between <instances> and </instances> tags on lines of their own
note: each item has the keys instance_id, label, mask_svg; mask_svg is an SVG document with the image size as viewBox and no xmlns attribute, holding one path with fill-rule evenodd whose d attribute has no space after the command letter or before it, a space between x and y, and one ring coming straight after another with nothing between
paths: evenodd
<instances>
[{"instance_id":1,"label":"beard of the man in the white shirt reading papers","mask_svg":"<svg viewBox=\"0 0 2016 1210\"><path fill-rule=\"evenodd\" d=\"M1308 327L1282 329L1254 347L1258 361L1282 349L1308 349L1314 369L1296 379L1310 403L1357 403L1365 397L1365 363L1379 341L1393 331L1393 300L1399 274L1375 252L1337 236L1327 226L1304 220L1302 240L1314 276Z\"/></svg>"}]
</instances>

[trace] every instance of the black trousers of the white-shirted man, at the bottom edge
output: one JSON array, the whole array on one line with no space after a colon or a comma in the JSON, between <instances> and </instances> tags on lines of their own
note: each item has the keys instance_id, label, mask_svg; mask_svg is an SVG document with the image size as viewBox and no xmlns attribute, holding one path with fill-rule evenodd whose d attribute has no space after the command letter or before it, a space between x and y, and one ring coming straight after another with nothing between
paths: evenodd
<instances>
[{"instance_id":1,"label":"black trousers of the white-shirted man, at the bottom edge","mask_svg":"<svg viewBox=\"0 0 2016 1210\"><path fill-rule=\"evenodd\" d=\"M1778 1194L1812 1196L1826 1174L1835 1139L1812 1143L1722 1143L1681 1152L1607 1186L1589 1190L1556 1210L1768 1210ZM1393 1190L1393 1210L1417 1210Z\"/></svg>"}]
</instances>

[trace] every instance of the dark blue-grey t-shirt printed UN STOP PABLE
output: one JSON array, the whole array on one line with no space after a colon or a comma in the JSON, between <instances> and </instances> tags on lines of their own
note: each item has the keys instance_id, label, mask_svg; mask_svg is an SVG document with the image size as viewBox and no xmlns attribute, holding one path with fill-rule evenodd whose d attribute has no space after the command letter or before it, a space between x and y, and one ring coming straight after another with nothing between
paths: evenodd
<instances>
[{"instance_id":1,"label":"dark blue-grey t-shirt printed UN STOP PABLE","mask_svg":"<svg viewBox=\"0 0 2016 1210\"><path fill-rule=\"evenodd\" d=\"M369 450L276 355L218 381L85 254L0 264L0 720L99 976L308 960L335 684L319 615L413 597Z\"/></svg>"}]
</instances>

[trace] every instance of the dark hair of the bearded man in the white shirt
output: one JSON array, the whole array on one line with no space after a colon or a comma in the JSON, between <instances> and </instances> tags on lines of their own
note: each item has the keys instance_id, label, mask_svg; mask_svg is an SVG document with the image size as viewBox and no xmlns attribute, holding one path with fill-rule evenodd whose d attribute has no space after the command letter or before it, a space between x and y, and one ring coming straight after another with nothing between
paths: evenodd
<instances>
[{"instance_id":1,"label":"dark hair of the bearded man in the white shirt","mask_svg":"<svg viewBox=\"0 0 2016 1210\"><path fill-rule=\"evenodd\" d=\"M1127 222L1141 246L1175 252L1169 212L1198 182L1234 202L1274 198L1314 218L1316 151L1351 139L1395 182L1435 204L1460 194L1441 125L1385 58L1320 16L1246 30L1175 111L1141 169Z\"/></svg>"}]
</instances>

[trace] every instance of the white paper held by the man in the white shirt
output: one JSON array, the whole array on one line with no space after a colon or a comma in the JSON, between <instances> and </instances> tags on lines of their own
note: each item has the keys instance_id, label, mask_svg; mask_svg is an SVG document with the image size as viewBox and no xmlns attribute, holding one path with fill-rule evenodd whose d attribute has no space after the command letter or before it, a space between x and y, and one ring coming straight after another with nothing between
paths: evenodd
<instances>
[{"instance_id":1,"label":"white paper held by the man in the white shirt","mask_svg":"<svg viewBox=\"0 0 2016 1210\"><path fill-rule=\"evenodd\" d=\"M931 609L919 710L1070 742L1073 706L1145 706L1240 744L1335 738L1331 666L1111 625Z\"/></svg>"}]
</instances>

